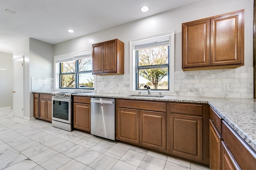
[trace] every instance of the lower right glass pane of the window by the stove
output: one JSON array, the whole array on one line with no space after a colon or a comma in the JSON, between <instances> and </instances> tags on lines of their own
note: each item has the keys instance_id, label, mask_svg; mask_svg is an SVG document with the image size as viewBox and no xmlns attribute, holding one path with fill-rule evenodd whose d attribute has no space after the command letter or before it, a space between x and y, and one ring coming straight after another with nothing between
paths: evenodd
<instances>
[{"instance_id":1,"label":"lower right glass pane of the window by the stove","mask_svg":"<svg viewBox=\"0 0 256 170\"><path fill-rule=\"evenodd\" d=\"M78 74L78 87L79 88L94 88L94 76L92 73Z\"/></svg>"}]
</instances>

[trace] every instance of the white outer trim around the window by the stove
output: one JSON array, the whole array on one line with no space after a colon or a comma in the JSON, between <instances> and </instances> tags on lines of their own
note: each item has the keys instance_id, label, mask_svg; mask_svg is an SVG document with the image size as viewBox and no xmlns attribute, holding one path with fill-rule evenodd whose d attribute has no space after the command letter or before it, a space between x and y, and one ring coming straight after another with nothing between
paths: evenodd
<instances>
[{"instance_id":1,"label":"white outer trim around the window by the stove","mask_svg":"<svg viewBox=\"0 0 256 170\"><path fill-rule=\"evenodd\" d=\"M60 82L60 76L59 76L59 70L60 70L60 65L58 63L56 63L57 60L61 60L61 59L75 59L78 56L82 56L82 55L92 55L92 49L85 49L85 50L81 50L81 51L75 51L75 52L71 52L71 53L66 53L66 54L61 54L61 55L55 55L54 56L54 89L60 89L59 86L59 82ZM94 75L94 90L96 90L96 76ZM79 90L79 89L76 89ZM81 89L84 90L84 89Z\"/></svg>"}]
</instances>

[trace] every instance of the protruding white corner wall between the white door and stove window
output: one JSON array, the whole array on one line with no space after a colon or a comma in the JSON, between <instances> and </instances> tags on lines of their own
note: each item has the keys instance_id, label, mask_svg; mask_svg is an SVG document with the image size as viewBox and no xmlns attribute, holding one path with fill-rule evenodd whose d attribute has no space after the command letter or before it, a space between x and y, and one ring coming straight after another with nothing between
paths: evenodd
<instances>
[{"instance_id":1,"label":"protruding white corner wall between the white door and stove window","mask_svg":"<svg viewBox=\"0 0 256 170\"><path fill-rule=\"evenodd\" d=\"M24 55L24 118L33 117L31 77L53 77L53 45L32 38L14 44L13 58Z\"/></svg>"}]
</instances>

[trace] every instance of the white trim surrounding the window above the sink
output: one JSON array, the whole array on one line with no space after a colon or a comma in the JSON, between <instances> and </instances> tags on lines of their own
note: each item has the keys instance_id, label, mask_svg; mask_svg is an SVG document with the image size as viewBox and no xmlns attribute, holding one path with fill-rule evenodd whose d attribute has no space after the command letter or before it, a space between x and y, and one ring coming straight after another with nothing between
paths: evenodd
<instances>
[{"instance_id":1,"label":"white trim surrounding the window above the sink","mask_svg":"<svg viewBox=\"0 0 256 170\"><path fill-rule=\"evenodd\" d=\"M163 92L174 92L174 50L175 50L175 45L174 45L174 34L175 31L169 31L166 33L161 33L157 35L152 35L148 37L142 37L138 39L132 39L129 41L129 60L130 60L130 91L136 91L135 90L135 73L136 73L136 61L135 61L135 50L133 49L134 45L139 45L143 44L145 42L150 42L150 41L155 41L158 39L163 39L165 37L170 38L170 65L169 65L169 73L170 73L170 83L169 83L169 91L163 91Z\"/></svg>"}]
</instances>

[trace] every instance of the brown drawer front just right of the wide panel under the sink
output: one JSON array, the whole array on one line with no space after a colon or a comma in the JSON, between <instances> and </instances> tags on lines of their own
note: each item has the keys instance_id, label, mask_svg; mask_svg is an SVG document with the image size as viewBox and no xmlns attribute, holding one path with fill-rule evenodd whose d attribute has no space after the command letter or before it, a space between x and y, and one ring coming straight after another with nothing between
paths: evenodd
<instances>
[{"instance_id":1,"label":"brown drawer front just right of the wide panel under the sink","mask_svg":"<svg viewBox=\"0 0 256 170\"><path fill-rule=\"evenodd\" d=\"M172 113L184 113L192 115L202 115L203 106L199 104L170 104L170 112Z\"/></svg>"}]
</instances>

